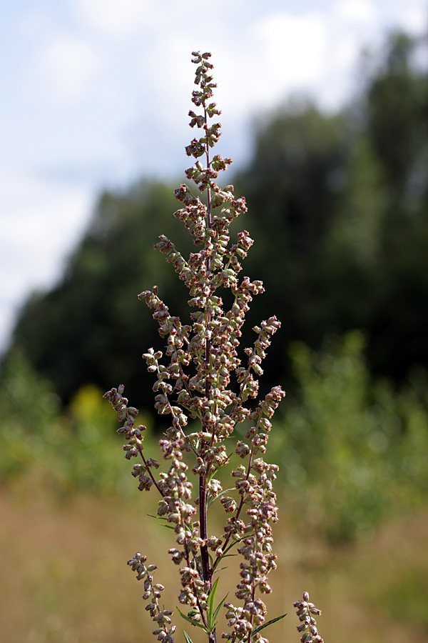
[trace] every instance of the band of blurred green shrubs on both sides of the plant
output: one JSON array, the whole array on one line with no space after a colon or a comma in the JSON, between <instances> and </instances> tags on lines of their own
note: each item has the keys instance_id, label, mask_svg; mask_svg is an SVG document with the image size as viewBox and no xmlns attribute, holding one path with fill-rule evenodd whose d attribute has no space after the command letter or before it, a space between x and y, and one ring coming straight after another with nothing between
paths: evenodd
<instances>
[{"instance_id":1,"label":"band of blurred green shrubs on both sides of the plant","mask_svg":"<svg viewBox=\"0 0 428 643\"><path fill-rule=\"evenodd\" d=\"M294 344L298 388L287 396L285 418L271 436L299 522L332 542L366 537L389 514L422 506L428 494L427 376L415 371L400 389L373 382L364 344L359 332L327 339L322 352ZM118 462L115 428L97 387L83 387L62 412L51 386L22 354L5 364L3 484L36 476L61 495L81 489L133 497ZM156 448L146 435L151 440Z\"/></svg>"}]
</instances>

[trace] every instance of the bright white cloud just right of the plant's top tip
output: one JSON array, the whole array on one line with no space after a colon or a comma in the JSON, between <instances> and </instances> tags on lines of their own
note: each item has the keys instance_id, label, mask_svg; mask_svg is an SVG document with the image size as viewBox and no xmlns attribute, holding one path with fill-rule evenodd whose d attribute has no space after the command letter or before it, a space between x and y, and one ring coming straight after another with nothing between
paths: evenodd
<instances>
[{"instance_id":1,"label":"bright white cloud just right of the plant's top tip","mask_svg":"<svg viewBox=\"0 0 428 643\"><path fill-rule=\"evenodd\" d=\"M248 119L290 92L310 91L325 61L327 30L321 14L257 16L213 45L218 101L225 119Z\"/></svg>"}]
</instances>

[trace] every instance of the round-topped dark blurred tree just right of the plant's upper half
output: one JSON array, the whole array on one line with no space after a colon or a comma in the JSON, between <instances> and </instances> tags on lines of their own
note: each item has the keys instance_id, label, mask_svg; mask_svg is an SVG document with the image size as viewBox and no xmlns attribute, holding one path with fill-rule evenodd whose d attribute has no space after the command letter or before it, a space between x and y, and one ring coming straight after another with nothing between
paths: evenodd
<instances>
[{"instance_id":1,"label":"round-topped dark blurred tree just right of the plant's upper half","mask_svg":"<svg viewBox=\"0 0 428 643\"><path fill-rule=\"evenodd\" d=\"M278 311L286 343L322 341L315 276L342 211L349 158L342 115L326 116L313 104L291 103L260 126L253 159L238 174L236 182L247 195L249 229L258 239L248 264L268 284L263 306ZM272 246L275 251L268 250Z\"/></svg>"}]
</instances>

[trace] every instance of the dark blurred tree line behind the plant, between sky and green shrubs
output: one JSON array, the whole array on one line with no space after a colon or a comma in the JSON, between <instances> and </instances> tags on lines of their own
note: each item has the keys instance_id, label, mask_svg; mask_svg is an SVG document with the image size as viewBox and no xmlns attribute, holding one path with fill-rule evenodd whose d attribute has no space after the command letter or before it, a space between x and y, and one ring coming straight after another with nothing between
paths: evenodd
<instances>
[{"instance_id":1,"label":"dark blurred tree line behind the plant, between sky and green shrubs","mask_svg":"<svg viewBox=\"0 0 428 643\"><path fill-rule=\"evenodd\" d=\"M250 328L260 319L281 319L266 371L286 388L292 342L317 349L326 335L350 329L365 331L373 374L399 383L415 365L428 367L424 46L390 35L367 57L352 104L337 114L304 100L265 114L250 161L230 179L248 203L240 226L255 239L243 274L266 286L246 337L253 341ZM137 294L156 284L173 314L188 314L183 284L153 251L161 233L183 253L193 250L172 216L174 187L141 180L104 191L58 284L21 309L5 360L24 351L64 404L83 384L106 390L123 382L135 404L151 408L141 354L162 340Z\"/></svg>"}]
</instances>

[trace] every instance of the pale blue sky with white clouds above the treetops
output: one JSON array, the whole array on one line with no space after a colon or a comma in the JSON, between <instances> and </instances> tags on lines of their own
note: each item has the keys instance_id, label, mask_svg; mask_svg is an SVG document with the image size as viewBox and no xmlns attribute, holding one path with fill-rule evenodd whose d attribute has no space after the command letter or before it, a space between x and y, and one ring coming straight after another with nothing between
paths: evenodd
<instances>
[{"instance_id":1,"label":"pale blue sky with white clouds above the treetops","mask_svg":"<svg viewBox=\"0 0 428 643\"><path fill-rule=\"evenodd\" d=\"M363 48L422 34L428 0L14 0L0 8L0 352L61 276L97 195L188 166L191 51L211 51L223 156L295 94L355 95Z\"/></svg>"}]
</instances>

